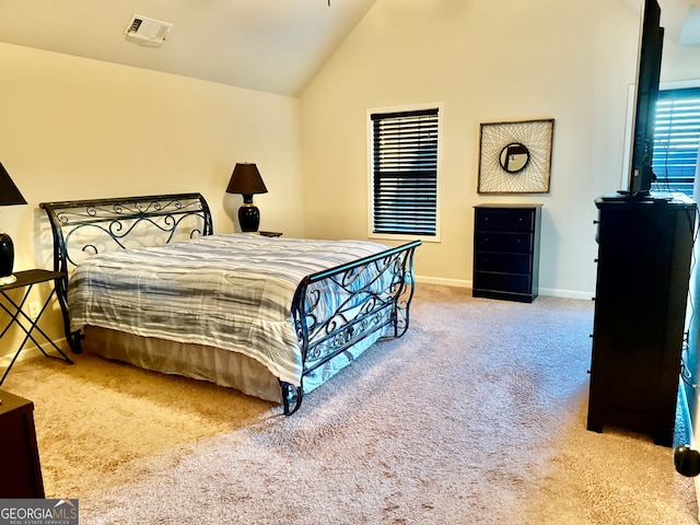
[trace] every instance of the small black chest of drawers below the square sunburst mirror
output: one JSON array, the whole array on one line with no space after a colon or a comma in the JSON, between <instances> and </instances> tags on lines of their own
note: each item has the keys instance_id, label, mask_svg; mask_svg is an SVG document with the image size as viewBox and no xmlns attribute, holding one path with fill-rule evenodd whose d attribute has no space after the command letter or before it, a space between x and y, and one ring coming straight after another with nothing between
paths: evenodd
<instances>
[{"instance_id":1,"label":"small black chest of drawers below the square sunburst mirror","mask_svg":"<svg viewBox=\"0 0 700 525\"><path fill-rule=\"evenodd\" d=\"M538 294L541 205L474 207L475 298L532 303Z\"/></svg>"}]
</instances>

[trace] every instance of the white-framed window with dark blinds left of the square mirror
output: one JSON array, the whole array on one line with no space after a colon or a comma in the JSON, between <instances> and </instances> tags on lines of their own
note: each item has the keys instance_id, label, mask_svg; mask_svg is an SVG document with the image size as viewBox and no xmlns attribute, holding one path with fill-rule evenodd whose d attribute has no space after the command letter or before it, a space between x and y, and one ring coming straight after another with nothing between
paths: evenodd
<instances>
[{"instance_id":1,"label":"white-framed window with dark blinds left of the square mirror","mask_svg":"<svg viewBox=\"0 0 700 525\"><path fill-rule=\"evenodd\" d=\"M370 113L371 232L438 235L439 108Z\"/></svg>"}]
</instances>

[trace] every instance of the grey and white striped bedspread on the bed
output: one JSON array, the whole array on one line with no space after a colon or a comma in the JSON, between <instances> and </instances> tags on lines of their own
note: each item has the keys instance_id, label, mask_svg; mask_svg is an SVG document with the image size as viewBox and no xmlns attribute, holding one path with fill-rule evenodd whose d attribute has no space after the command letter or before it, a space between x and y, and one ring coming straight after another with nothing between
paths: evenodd
<instances>
[{"instance_id":1,"label":"grey and white striped bedspread on the bed","mask_svg":"<svg viewBox=\"0 0 700 525\"><path fill-rule=\"evenodd\" d=\"M380 253L365 241L211 235L95 255L70 279L71 328L85 325L232 350L299 385L291 305L301 280Z\"/></svg>"}]
</instances>

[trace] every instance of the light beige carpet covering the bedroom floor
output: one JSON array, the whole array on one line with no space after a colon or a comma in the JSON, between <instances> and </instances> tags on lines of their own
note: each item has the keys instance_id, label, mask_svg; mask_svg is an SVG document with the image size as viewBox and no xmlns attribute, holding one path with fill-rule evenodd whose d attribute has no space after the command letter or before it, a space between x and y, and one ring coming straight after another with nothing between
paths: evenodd
<instances>
[{"instance_id":1,"label":"light beige carpet covering the bedroom floor","mask_svg":"<svg viewBox=\"0 0 700 525\"><path fill-rule=\"evenodd\" d=\"M81 524L695 524L645 435L585 430L593 304L419 285L409 332L301 410L90 355L36 359L47 497Z\"/></svg>"}]
</instances>

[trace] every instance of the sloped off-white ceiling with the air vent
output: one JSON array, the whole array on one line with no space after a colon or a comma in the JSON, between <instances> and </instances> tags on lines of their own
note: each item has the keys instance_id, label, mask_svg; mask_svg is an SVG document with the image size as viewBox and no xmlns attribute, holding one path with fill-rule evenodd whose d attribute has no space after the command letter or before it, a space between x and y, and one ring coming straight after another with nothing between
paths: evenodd
<instances>
[{"instance_id":1,"label":"sloped off-white ceiling with the air vent","mask_svg":"<svg viewBox=\"0 0 700 525\"><path fill-rule=\"evenodd\" d=\"M0 42L296 96L375 2L0 0ZM700 46L700 0L660 3L666 37ZM173 24L161 47L125 38L133 14Z\"/></svg>"}]
</instances>

